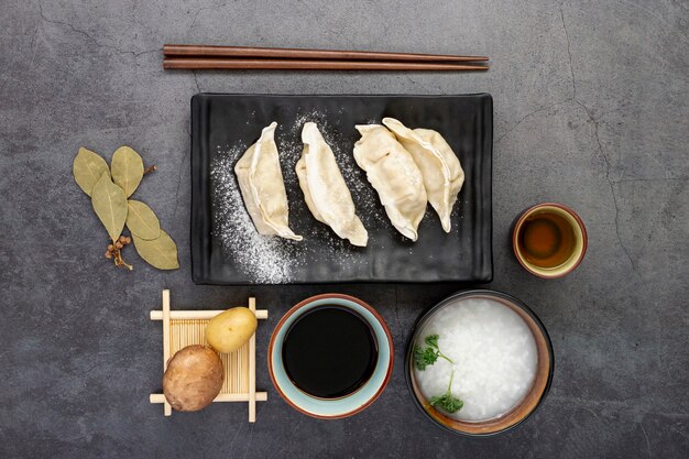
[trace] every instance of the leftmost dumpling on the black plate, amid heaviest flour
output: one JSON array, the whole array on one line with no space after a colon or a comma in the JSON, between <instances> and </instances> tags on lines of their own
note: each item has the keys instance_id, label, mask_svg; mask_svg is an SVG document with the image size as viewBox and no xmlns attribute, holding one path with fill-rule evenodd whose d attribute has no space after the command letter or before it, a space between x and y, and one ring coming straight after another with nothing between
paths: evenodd
<instances>
[{"instance_id":1,"label":"leftmost dumpling on the black plate, amid heaviest flour","mask_svg":"<svg viewBox=\"0 0 689 459\"><path fill-rule=\"evenodd\" d=\"M247 210L260 234L277 234L300 241L288 227L287 193L280 170L276 122L261 132L261 138L247 150L234 165Z\"/></svg>"}]
</instances>

